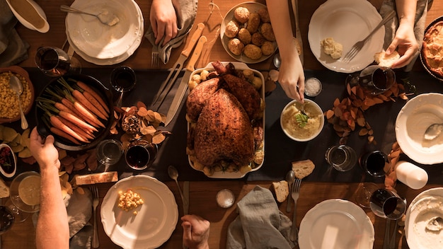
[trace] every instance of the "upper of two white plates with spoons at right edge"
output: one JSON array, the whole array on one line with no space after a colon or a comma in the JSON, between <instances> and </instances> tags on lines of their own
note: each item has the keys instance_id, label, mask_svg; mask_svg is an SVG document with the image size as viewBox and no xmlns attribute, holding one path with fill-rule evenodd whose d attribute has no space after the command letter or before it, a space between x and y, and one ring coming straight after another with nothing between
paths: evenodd
<instances>
[{"instance_id":1,"label":"upper of two white plates with spoons at right edge","mask_svg":"<svg viewBox=\"0 0 443 249\"><path fill-rule=\"evenodd\" d=\"M443 162L443 136L426 141L423 136L433 123L443 123L443 94L423 93L408 100L398 112L396 139L401 150L417 163Z\"/></svg>"}]
</instances>

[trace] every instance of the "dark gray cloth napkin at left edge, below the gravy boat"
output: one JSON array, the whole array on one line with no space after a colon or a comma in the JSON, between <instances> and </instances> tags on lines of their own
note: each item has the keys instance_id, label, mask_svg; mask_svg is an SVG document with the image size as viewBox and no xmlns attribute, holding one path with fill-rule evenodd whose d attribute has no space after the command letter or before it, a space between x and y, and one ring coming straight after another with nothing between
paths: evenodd
<instances>
[{"instance_id":1,"label":"dark gray cloth napkin at left edge, below the gravy boat","mask_svg":"<svg viewBox=\"0 0 443 249\"><path fill-rule=\"evenodd\" d=\"M11 66L28 59L28 42L18 36L17 18L5 0L0 0L0 67Z\"/></svg>"}]
</instances>

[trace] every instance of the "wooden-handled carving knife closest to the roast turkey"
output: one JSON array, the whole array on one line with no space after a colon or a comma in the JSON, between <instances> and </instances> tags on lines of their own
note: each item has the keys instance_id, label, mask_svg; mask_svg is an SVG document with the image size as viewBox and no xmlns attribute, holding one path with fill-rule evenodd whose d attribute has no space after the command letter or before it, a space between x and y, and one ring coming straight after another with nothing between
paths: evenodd
<instances>
[{"instance_id":1,"label":"wooden-handled carving knife closest to the roast turkey","mask_svg":"<svg viewBox=\"0 0 443 249\"><path fill-rule=\"evenodd\" d=\"M205 45L206 41L207 39L203 35L200 37L200 39L197 42L195 50L189 59L188 66L186 66L185 74L181 79L180 85L178 85L176 95L174 95L174 98L171 103L171 107L169 107L168 113L166 114L165 127L169 125L169 123L173 120L173 117L176 115L177 110L180 107L181 101L183 100L183 95L185 95L186 90L188 90L189 78L192 74L192 71L195 70L194 69L195 62L197 62L197 59L200 57L200 54L202 53L203 50L203 45Z\"/></svg>"}]
</instances>

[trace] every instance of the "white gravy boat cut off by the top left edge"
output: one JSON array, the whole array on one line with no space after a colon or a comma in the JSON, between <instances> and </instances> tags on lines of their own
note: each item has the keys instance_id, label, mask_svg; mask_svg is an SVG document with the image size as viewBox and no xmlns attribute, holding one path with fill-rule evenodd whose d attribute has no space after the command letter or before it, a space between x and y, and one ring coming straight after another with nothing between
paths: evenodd
<instances>
[{"instance_id":1,"label":"white gravy boat cut off by the top left edge","mask_svg":"<svg viewBox=\"0 0 443 249\"><path fill-rule=\"evenodd\" d=\"M29 28L30 30L37 30L40 33L47 33L47 31L50 30L50 24L47 23L45 11L43 11L42 8L33 0L25 0L25 2L26 4L20 4L18 6L15 6L16 8L14 8L14 6L11 4L11 0L6 0L6 3L8 3L9 8L11 8L12 13L14 14L14 16L16 16L18 21L23 24L23 26ZM25 11L25 9L27 9L27 11ZM30 22L30 15L21 16L20 14L31 12L37 14L38 20ZM40 25L37 24L38 21L41 22Z\"/></svg>"}]
</instances>

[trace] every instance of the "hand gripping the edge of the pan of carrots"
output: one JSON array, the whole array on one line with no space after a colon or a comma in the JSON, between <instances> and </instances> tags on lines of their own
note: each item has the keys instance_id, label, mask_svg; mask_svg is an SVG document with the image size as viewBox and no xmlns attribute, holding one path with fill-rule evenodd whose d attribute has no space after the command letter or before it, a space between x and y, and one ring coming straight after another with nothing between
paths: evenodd
<instances>
[{"instance_id":1,"label":"hand gripping the edge of the pan of carrots","mask_svg":"<svg viewBox=\"0 0 443 249\"><path fill-rule=\"evenodd\" d=\"M52 135L47 136L43 140L37 132L37 127L34 127L30 133L29 150L38 162L41 170L49 169L52 166L59 170L59 151L54 146L54 137Z\"/></svg>"}]
</instances>

